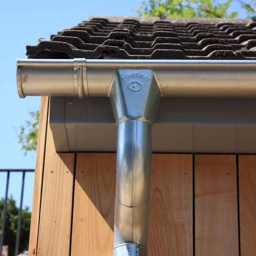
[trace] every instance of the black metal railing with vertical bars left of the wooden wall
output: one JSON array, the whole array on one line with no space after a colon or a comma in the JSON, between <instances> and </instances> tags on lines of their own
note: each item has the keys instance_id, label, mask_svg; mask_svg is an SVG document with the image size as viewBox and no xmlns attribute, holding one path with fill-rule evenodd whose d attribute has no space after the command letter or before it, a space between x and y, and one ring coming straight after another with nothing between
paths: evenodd
<instances>
[{"instance_id":1,"label":"black metal railing with vertical bars left of the wooden wall","mask_svg":"<svg viewBox=\"0 0 256 256\"><path fill-rule=\"evenodd\" d=\"M21 221L22 221L22 203L23 203L23 193L24 193L24 181L25 181L25 174L27 172L33 172L34 169L0 169L0 172L6 172L6 188L5 188L5 199L3 203L3 212L2 212L2 232L0 238L0 255L2 254L2 247L3 247L3 239L5 237L5 222L6 222L6 206L7 206L7 198L8 198L8 189L9 189L9 179L10 173L12 172L19 172L22 173L22 180L21 180L21 197L20 197L20 204L19 204L19 211L18 211L18 223L17 223L17 234L16 234L16 242L15 242L15 254L18 254L19 249L19 238L21 235Z\"/></svg>"}]
</instances>

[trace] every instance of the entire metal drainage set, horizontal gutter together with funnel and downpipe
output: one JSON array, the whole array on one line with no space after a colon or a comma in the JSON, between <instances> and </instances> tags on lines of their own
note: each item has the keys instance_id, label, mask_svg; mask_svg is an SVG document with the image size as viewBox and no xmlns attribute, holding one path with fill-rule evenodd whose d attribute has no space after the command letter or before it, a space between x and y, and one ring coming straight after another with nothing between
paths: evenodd
<instances>
[{"instance_id":1,"label":"entire metal drainage set, horizontal gutter together with funnel and downpipe","mask_svg":"<svg viewBox=\"0 0 256 256\"><path fill-rule=\"evenodd\" d=\"M114 256L147 255L151 133L161 96L256 97L256 61L17 61L26 95L110 97L117 138Z\"/></svg>"}]
</instances>

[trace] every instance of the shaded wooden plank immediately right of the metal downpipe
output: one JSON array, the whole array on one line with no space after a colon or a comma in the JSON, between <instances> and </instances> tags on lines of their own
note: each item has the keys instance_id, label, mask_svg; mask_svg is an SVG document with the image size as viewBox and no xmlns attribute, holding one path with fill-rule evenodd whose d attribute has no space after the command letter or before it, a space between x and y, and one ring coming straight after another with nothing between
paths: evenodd
<instances>
[{"instance_id":1,"label":"shaded wooden plank immediately right of the metal downpipe","mask_svg":"<svg viewBox=\"0 0 256 256\"><path fill-rule=\"evenodd\" d=\"M153 154L149 256L193 255L192 155Z\"/></svg>"}]
</instances>

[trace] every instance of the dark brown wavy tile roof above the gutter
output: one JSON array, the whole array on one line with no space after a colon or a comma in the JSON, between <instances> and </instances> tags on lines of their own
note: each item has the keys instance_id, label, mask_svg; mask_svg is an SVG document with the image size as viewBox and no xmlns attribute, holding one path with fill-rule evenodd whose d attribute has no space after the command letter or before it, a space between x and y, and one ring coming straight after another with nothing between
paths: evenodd
<instances>
[{"instance_id":1,"label":"dark brown wavy tile roof above the gutter","mask_svg":"<svg viewBox=\"0 0 256 256\"><path fill-rule=\"evenodd\" d=\"M26 48L29 58L256 59L256 22L91 16Z\"/></svg>"}]
</instances>

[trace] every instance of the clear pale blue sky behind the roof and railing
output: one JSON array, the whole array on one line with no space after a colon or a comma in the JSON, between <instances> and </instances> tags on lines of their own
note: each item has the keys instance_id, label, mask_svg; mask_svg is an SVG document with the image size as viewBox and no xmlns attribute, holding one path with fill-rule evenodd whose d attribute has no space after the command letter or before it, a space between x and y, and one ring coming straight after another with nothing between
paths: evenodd
<instances>
[{"instance_id":1,"label":"clear pale blue sky behind the roof and railing","mask_svg":"<svg viewBox=\"0 0 256 256\"><path fill-rule=\"evenodd\" d=\"M40 106L40 97L20 99L16 90L16 59L25 58L25 46L36 45L67 27L86 20L89 15L136 16L132 9L140 0L44 0L1 1L0 3L0 169L34 168L35 153L24 156L14 128L24 124L29 112ZM230 12L239 10L238 3ZM241 11L240 18L245 18ZM19 204L22 174L10 175L9 195ZM5 193L6 173L0 173L0 198ZM31 207L33 173L26 174L23 206Z\"/></svg>"}]
</instances>

